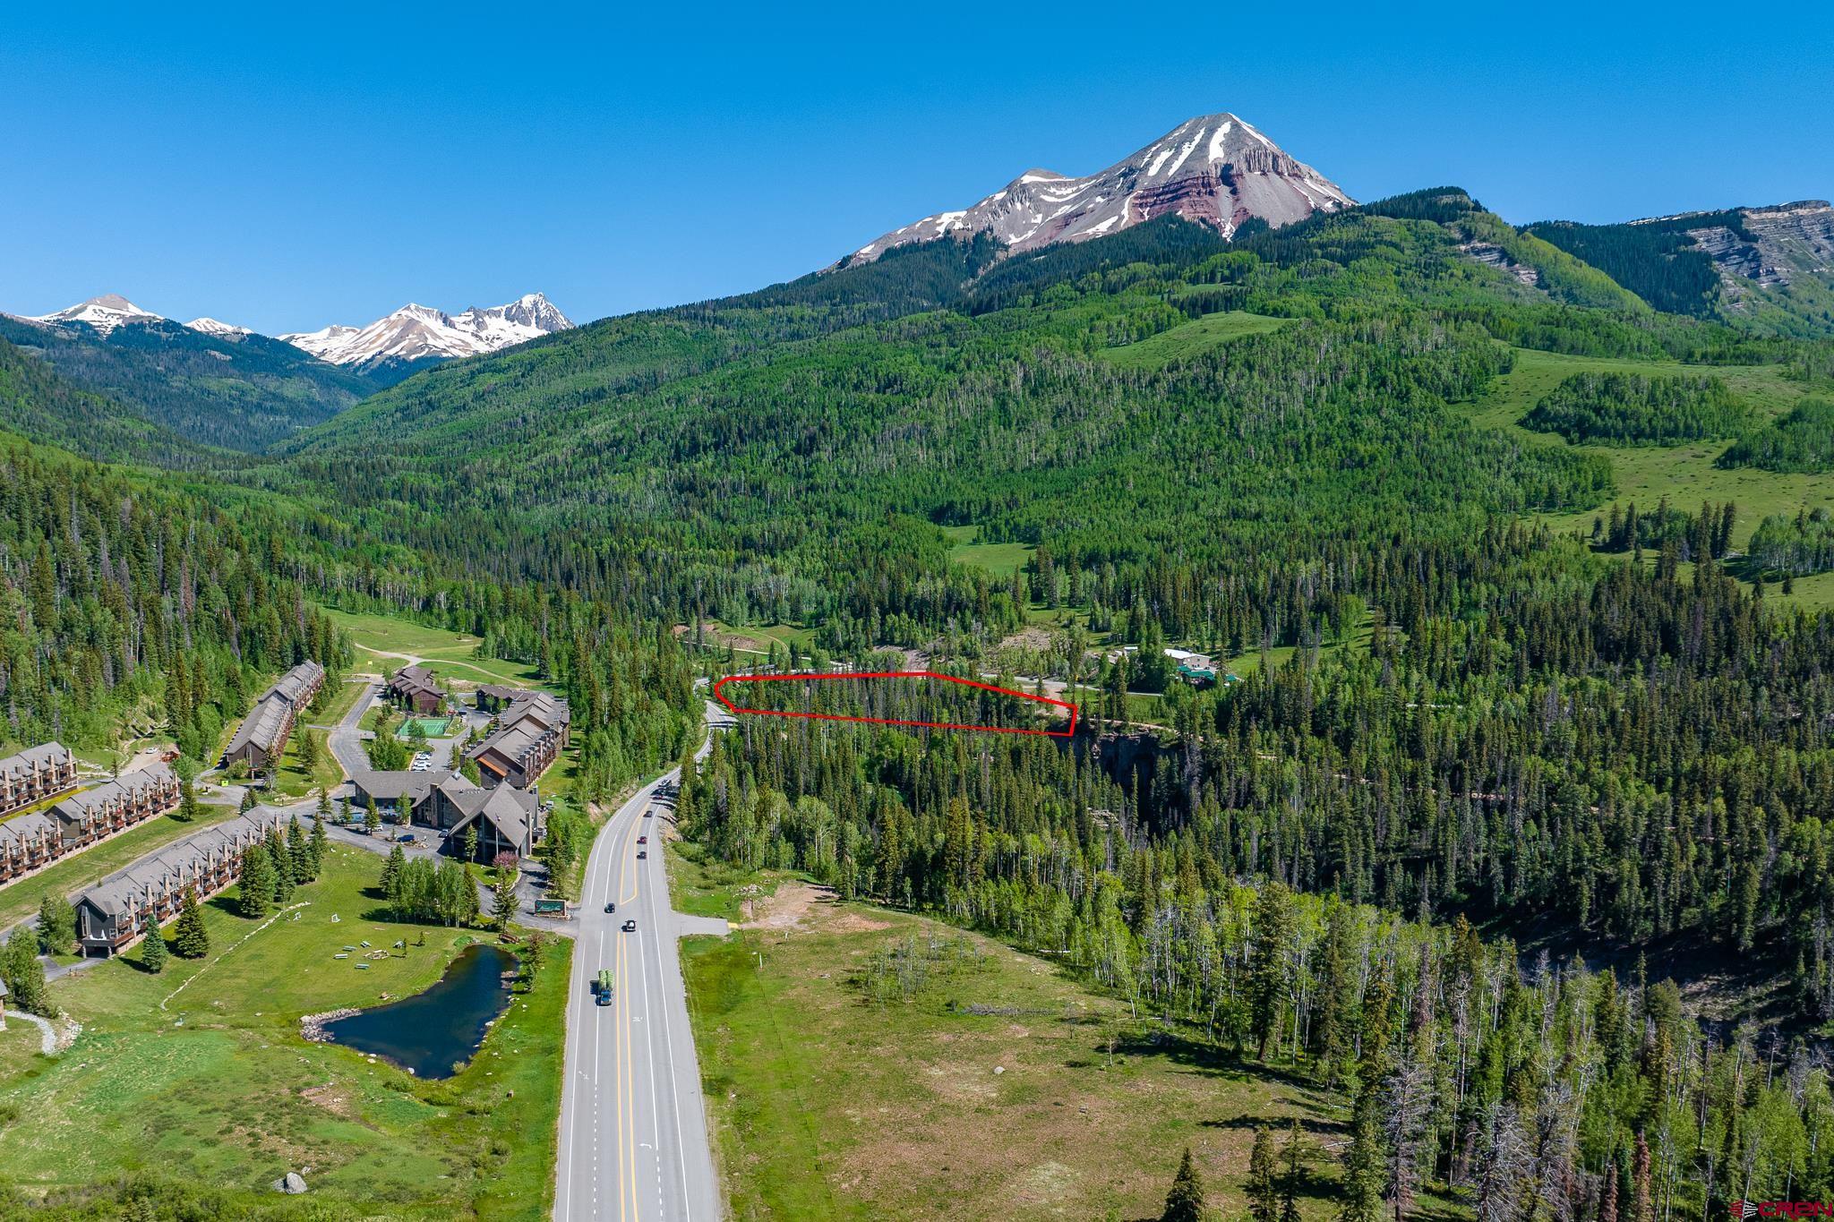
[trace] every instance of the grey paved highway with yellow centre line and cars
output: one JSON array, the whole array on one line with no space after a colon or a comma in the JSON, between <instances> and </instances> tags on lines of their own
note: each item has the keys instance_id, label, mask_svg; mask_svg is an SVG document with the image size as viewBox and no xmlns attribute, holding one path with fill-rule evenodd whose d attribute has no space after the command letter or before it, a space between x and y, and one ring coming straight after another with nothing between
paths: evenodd
<instances>
[{"instance_id":1,"label":"grey paved highway with yellow centre line and cars","mask_svg":"<svg viewBox=\"0 0 1834 1222\"><path fill-rule=\"evenodd\" d=\"M710 726L724 720L708 709ZM638 790L600 830L587 859L567 1009L559 1222L721 1217L675 940L726 925L669 907L660 824L677 780L671 771ZM607 912L607 903L616 911ZM625 922L636 927L625 931ZM592 997L603 969L613 973L609 1006Z\"/></svg>"}]
</instances>

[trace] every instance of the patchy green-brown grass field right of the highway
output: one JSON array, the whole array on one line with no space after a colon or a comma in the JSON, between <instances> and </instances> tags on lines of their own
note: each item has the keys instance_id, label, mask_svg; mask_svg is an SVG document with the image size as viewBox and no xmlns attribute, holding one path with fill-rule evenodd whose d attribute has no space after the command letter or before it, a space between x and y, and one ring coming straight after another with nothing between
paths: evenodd
<instances>
[{"instance_id":1,"label":"patchy green-brown grass field right of the highway","mask_svg":"<svg viewBox=\"0 0 1834 1222\"><path fill-rule=\"evenodd\" d=\"M732 903L691 854L673 878ZM684 942L735 1218L1157 1217L1185 1145L1234 1217L1254 1125L1342 1129L1309 1083L1135 1020L1044 958L796 879L750 907L743 933ZM1335 1211L1335 1178L1313 1160L1306 1218Z\"/></svg>"}]
</instances>

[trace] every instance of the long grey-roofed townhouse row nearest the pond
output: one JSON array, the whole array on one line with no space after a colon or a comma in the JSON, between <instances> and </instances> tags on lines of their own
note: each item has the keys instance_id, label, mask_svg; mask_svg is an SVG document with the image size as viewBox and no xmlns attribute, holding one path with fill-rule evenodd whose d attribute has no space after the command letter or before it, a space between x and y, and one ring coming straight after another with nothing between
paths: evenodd
<instances>
[{"instance_id":1,"label":"long grey-roofed townhouse row nearest the pond","mask_svg":"<svg viewBox=\"0 0 1834 1222\"><path fill-rule=\"evenodd\" d=\"M149 929L178 916L185 892L200 901L237 879L242 850L286 826L286 812L257 806L105 878L77 896L77 944L88 958L119 955Z\"/></svg>"}]
</instances>

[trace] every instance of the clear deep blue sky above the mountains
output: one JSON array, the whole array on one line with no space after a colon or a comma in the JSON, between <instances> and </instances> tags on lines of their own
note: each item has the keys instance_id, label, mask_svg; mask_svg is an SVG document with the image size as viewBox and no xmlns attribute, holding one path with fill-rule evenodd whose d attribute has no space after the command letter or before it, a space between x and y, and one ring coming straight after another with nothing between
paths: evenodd
<instances>
[{"instance_id":1,"label":"clear deep blue sky above the mountains","mask_svg":"<svg viewBox=\"0 0 1834 1222\"><path fill-rule=\"evenodd\" d=\"M11 13L0 310L117 291L273 333L543 289L587 321L1216 110L1357 198L1454 183L1515 222L1834 196L1806 5L383 7Z\"/></svg>"}]
</instances>

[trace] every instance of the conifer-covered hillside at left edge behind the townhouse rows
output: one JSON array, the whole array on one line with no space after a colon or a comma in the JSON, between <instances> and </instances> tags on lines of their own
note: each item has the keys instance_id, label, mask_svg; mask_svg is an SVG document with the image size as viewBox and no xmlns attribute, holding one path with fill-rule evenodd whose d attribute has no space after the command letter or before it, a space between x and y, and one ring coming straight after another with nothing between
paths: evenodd
<instances>
[{"instance_id":1,"label":"conifer-covered hillside at left edge behind the townhouse rows","mask_svg":"<svg viewBox=\"0 0 1834 1222\"><path fill-rule=\"evenodd\" d=\"M169 724L215 753L277 671L348 645L266 540L209 504L0 447L0 700L13 742L114 746Z\"/></svg>"}]
</instances>

